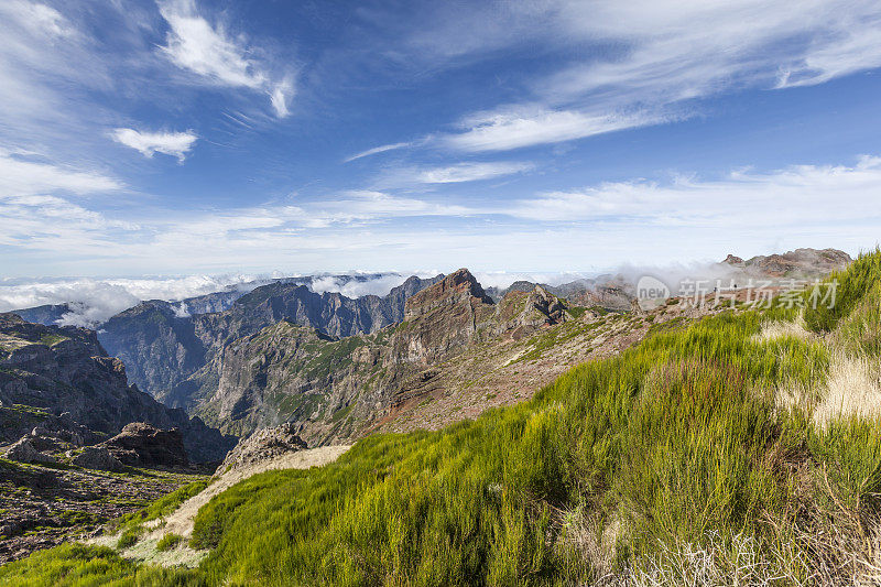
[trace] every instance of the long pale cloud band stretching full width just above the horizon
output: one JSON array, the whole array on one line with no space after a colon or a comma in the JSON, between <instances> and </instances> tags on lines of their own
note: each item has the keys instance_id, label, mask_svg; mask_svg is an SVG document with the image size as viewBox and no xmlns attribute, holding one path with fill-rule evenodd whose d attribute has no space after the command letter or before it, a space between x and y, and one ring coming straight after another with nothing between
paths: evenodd
<instances>
[{"instance_id":1,"label":"long pale cloud band stretching full width just above the horizon","mask_svg":"<svg viewBox=\"0 0 881 587\"><path fill-rule=\"evenodd\" d=\"M546 274L796 247L853 253L878 240L878 194L879 156L739 170L720 178L609 182L474 206L358 191L298 198L296 206L167 209L121 220L35 193L0 198L0 254L9 260L6 275L22 275L33 267L68 274L96 267L124 274L229 268L314 273L389 269L401 259L444 271Z\"/></svg>"}]
</instances>

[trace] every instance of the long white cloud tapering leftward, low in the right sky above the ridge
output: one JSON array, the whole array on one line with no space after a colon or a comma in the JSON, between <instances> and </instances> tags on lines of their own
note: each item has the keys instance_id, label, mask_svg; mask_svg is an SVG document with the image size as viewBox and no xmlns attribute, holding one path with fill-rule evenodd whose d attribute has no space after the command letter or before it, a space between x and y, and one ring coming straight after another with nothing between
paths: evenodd
<instances>
[{"instance_id":1,"label":"long white cloud tapering leftward, low in the right sky above the ridge","mask_svg":"<svg viewBox=\"0 0 881 587\"><path fill-rule=\"evenodd\" d=\"M509 214L548 222L602 221L701 228L845 226L878 221L881 157L853 165L738 171L719 181L679 176L667 184L603 183L521 199ZM871 211L874 210L874 211Z\"/></svg>"}]
</instances>

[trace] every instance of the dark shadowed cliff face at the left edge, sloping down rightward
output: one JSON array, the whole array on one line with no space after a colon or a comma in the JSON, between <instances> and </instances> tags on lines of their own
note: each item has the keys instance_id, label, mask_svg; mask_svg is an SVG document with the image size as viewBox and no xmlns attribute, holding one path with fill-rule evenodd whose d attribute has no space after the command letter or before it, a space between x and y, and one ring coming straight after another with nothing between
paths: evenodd
<instances>
[{"instance_id":1,"label":"dark shadowed cliff face at the left edge, sloping down rightward","mask_svg":"<svg viewBox=\"0 0 881 587\"><path fill-rule=\"evenodd\" d=\"M180 428L194 461L221 459L235 444L129 387L122 361L107 356L93 330L30 324L14 314L0 314L0 402L7 439L30 430L33 420L20 412L36 409L101 435L131 422Z\"/></svg>"}]
</instances>

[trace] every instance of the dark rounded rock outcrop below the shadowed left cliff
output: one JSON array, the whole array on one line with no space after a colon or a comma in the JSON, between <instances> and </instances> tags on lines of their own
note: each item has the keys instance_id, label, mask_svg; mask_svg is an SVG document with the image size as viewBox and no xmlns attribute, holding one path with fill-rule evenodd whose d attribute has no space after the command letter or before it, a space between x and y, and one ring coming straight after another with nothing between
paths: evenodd
<instances>
[{"instance_id":1,"label":"dark rounded rock outcrop below the shadowed left cliff","mask_svg":"<svg viewBox=\"0 0 881 587\"><path fill-rule=\"evenodd\" d=\"M186 467L189 461L177 428L160 430L143 422L126 424L122 432L98 445L124 465Z\"/></svg>"}]
</instances>

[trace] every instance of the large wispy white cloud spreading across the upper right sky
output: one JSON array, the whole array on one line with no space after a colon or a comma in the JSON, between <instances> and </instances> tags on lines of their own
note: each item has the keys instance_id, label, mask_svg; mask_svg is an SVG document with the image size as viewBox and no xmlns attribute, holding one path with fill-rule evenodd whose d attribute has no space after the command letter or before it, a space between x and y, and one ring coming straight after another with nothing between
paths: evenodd
<instances>
[{"instance_id":1,"label":"large wispy white cloud spreading across the upper right sky","mask_svg":"<svg viewBox=\"0 0 881 587\"><path fill-rule=\"evenodd\" d=\"M439 138L455 150L519 149L656 124L689 116L689 100L721 91L814 85L881 67L877 0L558 0L496 12L435 19L436 28L411 43L435 58L536 41L586 47L584 57L527 81L527 104L466 117L463 132ZM447 46L485 28L478 41Z\"/></svg>"}]
</instances>

